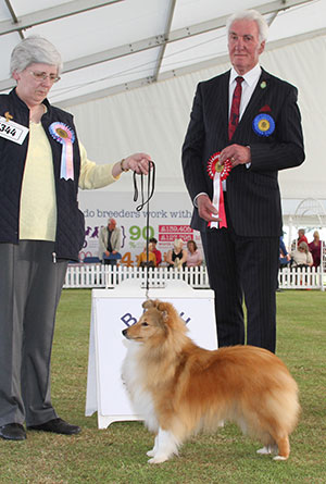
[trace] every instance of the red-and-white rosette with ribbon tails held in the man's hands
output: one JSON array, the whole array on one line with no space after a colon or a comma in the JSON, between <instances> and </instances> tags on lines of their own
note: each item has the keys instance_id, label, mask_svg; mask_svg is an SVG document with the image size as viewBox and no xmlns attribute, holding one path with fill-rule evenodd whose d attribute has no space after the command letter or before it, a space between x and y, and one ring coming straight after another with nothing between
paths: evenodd
<instances>
[{"instance_id":1,"label":"red-and-white rosette with ribbon tails held in the man's hands","mask_svg":"<svg viewBox=\"0 0 326 484\"><path fill-rule=\"evenodd\" d=\"M210 158L208 172L213 179L213 206L217 210L216 218L221 219L220 222L209 222L210 228L227 227L222 182L228 177L230 170L231 162L229 160L226 160L224 164L220 164L220 152L214 153Z\"/></svg>"}]
</instances>

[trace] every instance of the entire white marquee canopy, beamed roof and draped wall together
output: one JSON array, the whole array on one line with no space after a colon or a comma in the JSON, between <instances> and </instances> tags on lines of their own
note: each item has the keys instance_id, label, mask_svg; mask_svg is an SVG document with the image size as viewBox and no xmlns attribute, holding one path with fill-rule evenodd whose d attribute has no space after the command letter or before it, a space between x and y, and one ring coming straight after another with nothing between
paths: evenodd
<instances>
[{"instance_id":1,"label":"entire white marquee canopy, beamed roof and draped wall together","mask_svg":"<svg viewBox=\"0 0 326 484\"><path fill-rule=\"evenodd\" d=\"M326 0L2 0L0 91L14 86L9 60L20 39L47 37L64 60L50 101L75 114L89 158L147 151L158 189L184 191L180 148L196 85L229 69L225 22L243 8L271 26L262 65L299 88L306 161L280 173L283 198L292 212L303 198L323 204ZM126 175L113 189L130 185Z\"/></svg>"}]
</instances>

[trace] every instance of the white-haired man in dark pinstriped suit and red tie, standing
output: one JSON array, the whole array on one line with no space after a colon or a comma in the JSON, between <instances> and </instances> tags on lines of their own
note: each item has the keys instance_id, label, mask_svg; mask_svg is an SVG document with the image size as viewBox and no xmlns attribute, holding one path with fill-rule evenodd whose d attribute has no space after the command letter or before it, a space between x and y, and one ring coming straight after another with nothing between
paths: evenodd
<instances>
[{"instance_id":1,"label":"white-haired man in dark pinstriped suit and red tie, standing","mask_svg":"<svg viewBox=\"0 0 326 484\"><path fill-rule=\"evenodd\" d=\"M215 291L218 345L244 344L244 297L247 344L275 351L283 226L277 174L300 165L304 150L297 88L259 64L267 30L254 10L229 18L233 67L198 85L183 169L195 206L191 226L201 232Z\"/></svg>"}]
</instances>

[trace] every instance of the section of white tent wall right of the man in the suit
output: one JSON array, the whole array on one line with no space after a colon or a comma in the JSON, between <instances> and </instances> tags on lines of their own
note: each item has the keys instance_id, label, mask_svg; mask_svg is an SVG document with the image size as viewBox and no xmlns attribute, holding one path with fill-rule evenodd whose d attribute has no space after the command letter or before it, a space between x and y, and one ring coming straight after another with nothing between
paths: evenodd
<instances>
[{"instance_id":1,"label":"section of white tent wall right of the man in the suit","mask_svg":"<svg viewBox=\"0 0 326 484\"><path fill-rule=\"evenodd\" d=\"M264 66L299 89L299 107L305 142L305 162L279 173L285 199L326 198L326 37L293 44L267 52Z\"/></svg>"}]
</instances>

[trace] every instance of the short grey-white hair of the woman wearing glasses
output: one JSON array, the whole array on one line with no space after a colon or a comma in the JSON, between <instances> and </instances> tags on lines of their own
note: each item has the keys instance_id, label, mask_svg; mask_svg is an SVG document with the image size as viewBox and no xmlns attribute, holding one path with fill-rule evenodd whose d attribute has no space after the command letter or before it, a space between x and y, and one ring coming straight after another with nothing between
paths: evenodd
<instances>
[{"instance_id":1,"label":"short grey-white hair of the woman wearing glasses","mask_svg":"<svg viewBox=\"0 0 326 484\"><path fill-rule=\"evenodd\" d=\"M58 75L62 71L61 54L53 44L39 36L27 37L17 44L11 54L10 73L23 72L30 64L55 65Z\"/></svg>"}]
</instances>

